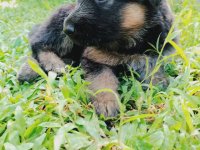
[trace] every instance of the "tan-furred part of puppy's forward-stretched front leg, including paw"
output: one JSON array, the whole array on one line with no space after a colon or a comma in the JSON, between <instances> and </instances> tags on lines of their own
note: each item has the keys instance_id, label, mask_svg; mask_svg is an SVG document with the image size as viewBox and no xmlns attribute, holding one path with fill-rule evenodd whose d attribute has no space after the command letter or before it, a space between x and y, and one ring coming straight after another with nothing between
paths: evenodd
<instances>
[{"instance_id":1,"label":"tan-furred part of puppy's forward-stretched front leg, including paw","mask_svg":"<svg viewBox=\"0 0 200 150\"><path fill-rule=\"evenodd\" d=\"M89 88L93 92L106 88L117 93L118 79L109 68L105 67L99 74L90 74L86 80L91 82ZM111 92L101 92L97 94L92 98L92 102L98 114L111 117L118 113L119 106L117 99Z\"/></svg>"}]
</instances>

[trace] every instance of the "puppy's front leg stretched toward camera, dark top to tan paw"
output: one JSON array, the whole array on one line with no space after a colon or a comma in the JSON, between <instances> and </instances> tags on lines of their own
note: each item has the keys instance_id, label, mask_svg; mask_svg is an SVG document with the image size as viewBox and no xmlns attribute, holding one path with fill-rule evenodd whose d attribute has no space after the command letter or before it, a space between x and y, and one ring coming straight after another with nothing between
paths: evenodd
<instances>
[{"instance_id":1,"label":"puppy's front leg stretched toward camera, dark top to tan paw","mask_svg":"<svg viewBox=\"0 0 200 150\"><path fill-rule=\"evenodd\" d=\"M100 89L111 89L117 93L118 79L111 68L88 59L82 60L82 66L85 71L85 79L91 82L89 88L93 92ZM101 92L91 97L91 100L98 115L114 117L119 112L117 98L112 92Z\"/></svg>"}]
</instances>

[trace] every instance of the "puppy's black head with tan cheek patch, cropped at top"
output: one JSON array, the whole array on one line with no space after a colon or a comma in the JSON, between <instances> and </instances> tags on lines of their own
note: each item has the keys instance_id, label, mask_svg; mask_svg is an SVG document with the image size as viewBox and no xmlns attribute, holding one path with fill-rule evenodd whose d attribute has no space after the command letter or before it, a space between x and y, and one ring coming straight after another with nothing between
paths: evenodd
<instances>
[{"instance_id":1,"label":"puppy's black head with tan cheek patch, cropped at top","mask_svg":"<svg viewBox=\"0 0 200 150\"><path fill-rule=\"evenodd\" d=\"M65 33L77 44L99 46L137 36L161 0L78 0L64 21Z\"/></svg>"}]
</instances>

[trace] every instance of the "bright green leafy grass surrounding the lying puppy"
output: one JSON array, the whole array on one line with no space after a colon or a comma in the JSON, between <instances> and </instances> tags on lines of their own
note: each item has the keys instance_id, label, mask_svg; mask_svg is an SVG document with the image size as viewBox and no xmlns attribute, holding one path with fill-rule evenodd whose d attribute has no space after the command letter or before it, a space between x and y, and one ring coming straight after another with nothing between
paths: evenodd
<instances>
[{"instance_id":1,"label":"bright green leafy grass surrounding the lying puppy","mask_svg":"<svg viewBox=\"0 0 200 150\"><path fill-rule=\"evenodd\" d=\"M108 129L88 100L80 68L69 67L59 80L53 73L32 84L16 79L21 58L30 54L29 30L63 2L18 0L16 8L0 7L0 150L200 149L200 5L170 1L180 43L166 70L178 76L170 77L165 92L143 92L141 83L123 77L121 113Z\"/></svg>"}]
</instances>

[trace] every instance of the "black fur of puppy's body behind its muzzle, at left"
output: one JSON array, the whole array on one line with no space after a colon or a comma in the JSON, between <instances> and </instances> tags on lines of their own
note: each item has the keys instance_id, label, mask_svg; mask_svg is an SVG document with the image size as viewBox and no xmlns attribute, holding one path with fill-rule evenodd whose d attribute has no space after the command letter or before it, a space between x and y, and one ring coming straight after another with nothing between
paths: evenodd
<instances>
[{"instance_id":1,"label":"black fur of puppy's body behind its muzzle, at left","mask_svg":"<svg viewBox=\"0 0 200 150\"><path fill-rule=\"evenodd\" d=\"M73 5L62 6L46 22L34 29L34 33L29 36L34 58L38 60L41 51L52 51L64 60L80 60L83 46L74 44L63 32L64 19L73 8Z\"/></svg>"}]
</instances>

